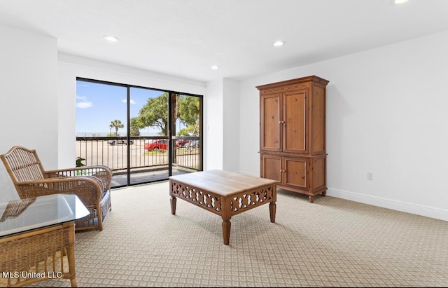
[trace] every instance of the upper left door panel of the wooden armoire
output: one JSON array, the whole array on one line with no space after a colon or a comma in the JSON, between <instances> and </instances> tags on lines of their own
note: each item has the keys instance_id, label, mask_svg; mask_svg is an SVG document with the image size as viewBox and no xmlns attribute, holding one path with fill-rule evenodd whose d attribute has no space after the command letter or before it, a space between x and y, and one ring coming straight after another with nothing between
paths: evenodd
<instances>
[{"instance_id":1,"label":"upper left door panel of the wooden armoire","mask_svg":"<svg viewBox=\"0 0 448 288\"><path fill-rule=\"evenodd\" d=\"M280 95L267 95L261 102L261 150L280 151Z\"/></svg>"}]
</instances>

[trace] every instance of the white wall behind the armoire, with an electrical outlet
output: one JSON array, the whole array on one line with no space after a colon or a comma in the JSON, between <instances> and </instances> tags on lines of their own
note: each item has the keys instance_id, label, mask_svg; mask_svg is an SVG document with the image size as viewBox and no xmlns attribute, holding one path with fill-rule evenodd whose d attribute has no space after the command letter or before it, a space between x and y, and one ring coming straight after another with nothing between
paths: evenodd
<instances>
[{"instance_id":1,"label":"white wall behind the armoire, with an electrical outlet","mask_svg":"<svg viewBox=\"0 0 448 288\"><path fill-rule=\"evenodd\" d=\"M447 51L442 32L242 81L241 172L259 173L255 85L317 75L330 81L327 195L448 220Z\"/></svg>"}]
</instances>

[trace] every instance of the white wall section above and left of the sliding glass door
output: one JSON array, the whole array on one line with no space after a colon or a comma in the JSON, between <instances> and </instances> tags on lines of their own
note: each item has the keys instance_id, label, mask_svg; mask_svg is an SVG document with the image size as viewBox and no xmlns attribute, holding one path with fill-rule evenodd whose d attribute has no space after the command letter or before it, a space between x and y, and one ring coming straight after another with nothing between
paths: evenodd
<instances>
[{"instance_id":1,"label":"white wall section above and left of the sliding glass door","mask_svg":"<svg viewBox=\"0 0 448 288\"><path fill-rule=\"evenodd\" d=\"M59 53L59 167L76 158L76 77L204 95L206 83Z\"/></svg>"}]
</instances>

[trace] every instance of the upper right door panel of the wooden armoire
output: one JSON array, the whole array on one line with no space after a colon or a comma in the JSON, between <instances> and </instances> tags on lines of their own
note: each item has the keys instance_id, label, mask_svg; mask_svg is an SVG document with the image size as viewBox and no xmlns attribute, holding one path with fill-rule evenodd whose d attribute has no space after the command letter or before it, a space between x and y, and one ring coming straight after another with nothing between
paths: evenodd
<instances>
[{"instance_id":1,"label":"upper right door panel of the wooden armoire","mask_svg":"<svg viewBox=\"0 0 448 288\"><path fill-rule=\"evenodd\" d=\"M283 151L307 153L307 91L283 93Z\"/></svg>"}]
</instances>

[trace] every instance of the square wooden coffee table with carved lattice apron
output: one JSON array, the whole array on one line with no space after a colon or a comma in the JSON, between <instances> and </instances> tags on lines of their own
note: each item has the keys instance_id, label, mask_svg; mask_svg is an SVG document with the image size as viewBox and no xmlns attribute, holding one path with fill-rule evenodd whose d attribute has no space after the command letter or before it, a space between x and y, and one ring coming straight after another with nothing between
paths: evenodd
<instances>
[{"instance_id":1,"label":"square wooden coffee table with carved lattice apron","mask_svg":"<svg viewBox=\"0 0 448 288\"><path fill-rule=\"evenodd\" d=\"M275 222L276 181L245 174L209 170L169 177L171 213L176 214L176 198L193 203L223 218L223 240L230 242L230 218L269 203Z\"/></svg>"}]
</instances>

